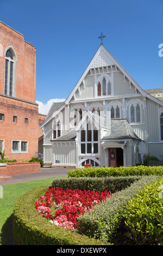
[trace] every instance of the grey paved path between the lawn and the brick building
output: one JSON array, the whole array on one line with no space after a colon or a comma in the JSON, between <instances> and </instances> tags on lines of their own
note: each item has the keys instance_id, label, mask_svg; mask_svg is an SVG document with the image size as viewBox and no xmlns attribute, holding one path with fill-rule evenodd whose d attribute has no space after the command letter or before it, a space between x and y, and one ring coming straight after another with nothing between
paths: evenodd
<instances>
[{"instance_id":1,"label":"grey paved path between the lawn and the brick building","mask_svg":"<svg viewBox=\"0 0 163 256\"><path fill-rule=\"evenodd\" d=\"M8 184L15 184L30 180L40 180L45 178L51 178L56 176L64 176L67 175L68 170L71 168L48 168L43 167L41 168L40 173L29 173L29 174L20 174L20 175L13 175L12 180L0 181L0 185L8 185Z\"/></svg>"}]
</instances>

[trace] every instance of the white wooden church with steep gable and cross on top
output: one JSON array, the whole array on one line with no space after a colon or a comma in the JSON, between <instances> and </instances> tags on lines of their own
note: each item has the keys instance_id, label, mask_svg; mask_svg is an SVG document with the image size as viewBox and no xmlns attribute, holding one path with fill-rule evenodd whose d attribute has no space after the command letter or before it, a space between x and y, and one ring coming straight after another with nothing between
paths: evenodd
<instances>
[{"instance_id":1,"label":"white wooden church with steep gable and cross on top","mask_svg":"<svg viewBox=\"0 0 163 256\"><path fill-rule=\"evenodd\" d=\"M163 155L163 102L146 93L103 44L41 127L44 162L52 167L134 166L144 154Z\"/></svg>"}]
</instances>

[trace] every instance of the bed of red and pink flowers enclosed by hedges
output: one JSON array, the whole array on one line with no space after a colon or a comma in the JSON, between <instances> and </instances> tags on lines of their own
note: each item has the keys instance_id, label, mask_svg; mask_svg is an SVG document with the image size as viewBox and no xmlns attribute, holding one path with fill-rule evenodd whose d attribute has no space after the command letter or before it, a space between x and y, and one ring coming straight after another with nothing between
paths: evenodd
<instances>
[{"instance_id":1,"label":"bed of red and pink flowers enclosed by hedges","mask_svg":"<svg viewBox=\"0 0 163 256\"><path fill-rule=\"evenodd\" d=\"M44 196L36 200L35 208L41 217L48 218L55 225L72 230L77 228L80 215L89 212L110 196L111 194L106 190L95 192L49 188Z\"/></svg>"}]
</instances>

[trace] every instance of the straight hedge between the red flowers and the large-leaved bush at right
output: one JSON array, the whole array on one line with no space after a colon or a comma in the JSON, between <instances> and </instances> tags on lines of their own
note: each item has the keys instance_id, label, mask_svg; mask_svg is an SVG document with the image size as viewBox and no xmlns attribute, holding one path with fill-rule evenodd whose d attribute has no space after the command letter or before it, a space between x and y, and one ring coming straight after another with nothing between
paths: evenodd
<instances>
[{"instance_id":1,"label":"straight hedge between the red flowers and the large-leaved bush at right","mask_svg":"<svg viewBox=\"0 0 163 256\"><path fill-rule=\"evenodd\" d=\"M123 220L123 213L127 208L127 202L145 187L145 185L160 179L159 176L142 176L140 180L131 184L130 187L118 191L106 199L89 213L79 217L78 227L80 232L96 239L109 240L112 242Z\"/></svg>"}]
</instances>

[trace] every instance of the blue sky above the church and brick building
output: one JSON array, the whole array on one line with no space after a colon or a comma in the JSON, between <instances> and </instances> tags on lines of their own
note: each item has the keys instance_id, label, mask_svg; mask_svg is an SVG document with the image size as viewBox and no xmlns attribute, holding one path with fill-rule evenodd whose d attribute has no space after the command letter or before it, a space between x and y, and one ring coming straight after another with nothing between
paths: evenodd
<instances>
[{"instance_id":1,"label":"blue sky above the church and brick building","mask_svg":"<svg viewBox=\"0 0 163 256\"><path fill-rule=\"evenodd\" d=\"M36 100L66 99L103 44L142 89L163 87L163 0L0 0L0 20L36 47ZM42 103L41 103L42 102ZM47 111L47 110L46 110Z\"/></svg>"}]
</instances>

